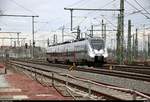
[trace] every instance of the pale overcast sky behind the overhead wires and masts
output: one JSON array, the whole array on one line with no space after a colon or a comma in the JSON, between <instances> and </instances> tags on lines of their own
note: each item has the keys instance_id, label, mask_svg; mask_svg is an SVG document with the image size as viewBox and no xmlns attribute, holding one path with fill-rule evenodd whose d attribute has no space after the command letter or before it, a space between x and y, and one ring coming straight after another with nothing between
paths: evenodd
<instances>
[{"instance_id":1,"label":"pale overcast sky behind the overhead wires and masts","mask_svg":"<svg viewBox=\"0 0 150 102\"><path fill-rule=\"evenodd\" d=\"M135 0L126 1L139 10L143 10ZM136 1L150 12L150 0ZM119 2L120 0L0 0L0 13L38 15L39 18L35 19L35 37L36 39L47 39L52 37L53 33L60 32L59 28L62 25L65 25L66 28L70 27L70 12L64 10L64 7L118 9ZM143 24L146 24L146 27L150 27L150 19L148 20L137 11L125 2L125 32L128 19L132 20L133 30L142 27ZM146 13L145 11L142 12ZM115 29L114 26L117 24L118 12L74 11L73 14L75 16L73 18L73 26L80 25L82 31L90 29L91 24L100 25L101 20L104 18L108 29ZM145 15L150 17L150 14ZM24 35L27 35L25 37L31 39L31 18L0 17L0 28L2 28L2 31L22 32ZM69 31L66 30L66 32Z\"/></svg>"}]
</instances>

